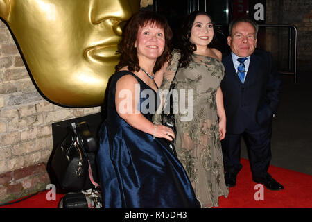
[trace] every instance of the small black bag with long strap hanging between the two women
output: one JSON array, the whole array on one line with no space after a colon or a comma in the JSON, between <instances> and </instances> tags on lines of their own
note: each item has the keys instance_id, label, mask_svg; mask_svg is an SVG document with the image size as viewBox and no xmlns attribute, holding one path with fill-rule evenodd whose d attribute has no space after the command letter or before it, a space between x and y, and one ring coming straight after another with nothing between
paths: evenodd
<instances>
[{"instance_id":1,"label":"small black bag with long strap hanging between the two women","mask_svg":"<svg viewBox=\"0 0 312 222\"><path fill-rule=\"evenodd\" d=\"M177 65L177 70L180 67L180 62ZM177 75L177 70L175 70L175 76ZM162 125L164 126L168 126L173 130L173 133L175 133L175 135L177 135L177 130L175 128L175 114L173 113L173 94L172 94L172 89L175 88L175 76L173 76L173 80L171 81L170 87L169 87L169 93L166 96L166 101L165 101L165 105L169 105L169 112L162 112L161 116L162 116ZM173 139L173 137L171 137ZM170 143L171 149L173 151L173 153L175 155L177 155L176 151L175 151L175 139L172 140L172 142Z\"/></svg>"}]
</instances>

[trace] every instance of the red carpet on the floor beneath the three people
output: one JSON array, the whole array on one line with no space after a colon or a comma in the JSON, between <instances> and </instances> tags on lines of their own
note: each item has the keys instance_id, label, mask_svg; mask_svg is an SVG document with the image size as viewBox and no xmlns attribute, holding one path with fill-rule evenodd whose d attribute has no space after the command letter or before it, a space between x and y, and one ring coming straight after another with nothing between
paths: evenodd
<instances>
[{"instance_id":1,"label":"red carpet on the floor beneath the three people","mask_svg":"<svg viewBox=\"0 0 312 222\"><path fill-rule=\"evenodd\" d=\"M219 198L218 208L311 208L312 207L312 176L280 167L270 166L269 173L275 180L284 185L281 191L270 191L263 187L263 199L255 200L254 194L260 193L254 189L255 182L248 160L241 159L243 169L237 176L236 187L229 189L227 198ZM46 200L47 191L26 200L0 208L57 208L64 194L57 194L56 200ZM261 195L256 195L261 197Z\"/></svg>"}]
</instances>

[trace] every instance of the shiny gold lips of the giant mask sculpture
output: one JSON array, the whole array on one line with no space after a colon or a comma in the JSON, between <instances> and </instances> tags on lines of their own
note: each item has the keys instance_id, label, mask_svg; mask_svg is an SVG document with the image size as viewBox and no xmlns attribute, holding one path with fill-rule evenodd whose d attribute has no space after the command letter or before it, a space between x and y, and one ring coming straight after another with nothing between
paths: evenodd
<instances>
[{"instance_id":1,"label":"shiny gold lips of the giant mask sculpture","mask_svg":"<svg viewBox=\"0 0 312 222\"><path fill-rule=\"evenodd\" d=\"M107 60L117 60L119 54L117 51L116 44L105 44L105 45L96 45L89 49L86 49L85 56L94 62L107 62Z\"/></svg>"}]
</instances>

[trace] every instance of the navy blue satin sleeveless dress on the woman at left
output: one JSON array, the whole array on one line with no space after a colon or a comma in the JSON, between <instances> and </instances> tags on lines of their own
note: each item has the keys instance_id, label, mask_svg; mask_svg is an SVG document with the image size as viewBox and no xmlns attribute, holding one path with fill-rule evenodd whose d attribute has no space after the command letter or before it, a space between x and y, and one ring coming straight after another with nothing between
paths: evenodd
<instances>
[{"instance_id":1,"label":"navy blue satin sleeveless dress on the woman at left","mask_svg":"<svg viewBox=\"0 0 312 222\"><path fill-rule=\"evenodd\" d=\"M135 76L130 71L119 71L112 76L107 119L99 132L97 164L103 207L200 207L187 173L177 157L169 151L166 139L153 139L152 135L133 128L117 114L116 82L128 74ZM140 92L153 90L140 78L135 78L139 82ZM156 92L152 92L156 99ZM141 95L140 104L148 98ZM149 120L152 115L144 114Z\"/></svg>"}]
</instances>

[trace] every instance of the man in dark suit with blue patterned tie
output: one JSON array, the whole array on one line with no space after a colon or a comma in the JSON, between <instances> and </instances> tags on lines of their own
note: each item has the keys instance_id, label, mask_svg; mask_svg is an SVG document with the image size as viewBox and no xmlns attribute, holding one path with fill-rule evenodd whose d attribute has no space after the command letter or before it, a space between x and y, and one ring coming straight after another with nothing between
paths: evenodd
<instances>
[{"instance_id":1,"label":"man in dark suit with blue patterned tie","mask_svg":"<svg viewBox=\"0 0 312 222\"><path fill-rule=\"evenodd\" d=\"M250 19L229 25L227 44L232 53L223 58L225 77L221 83L227 133L222 142L225 182L236 185L241 170L241 137L249 151L252 180L271 190L284 189L268 173L271 160L272 118L279 103L281 81L270 53L255 50L258 26Z\"/></svg>"}]
</instances>

